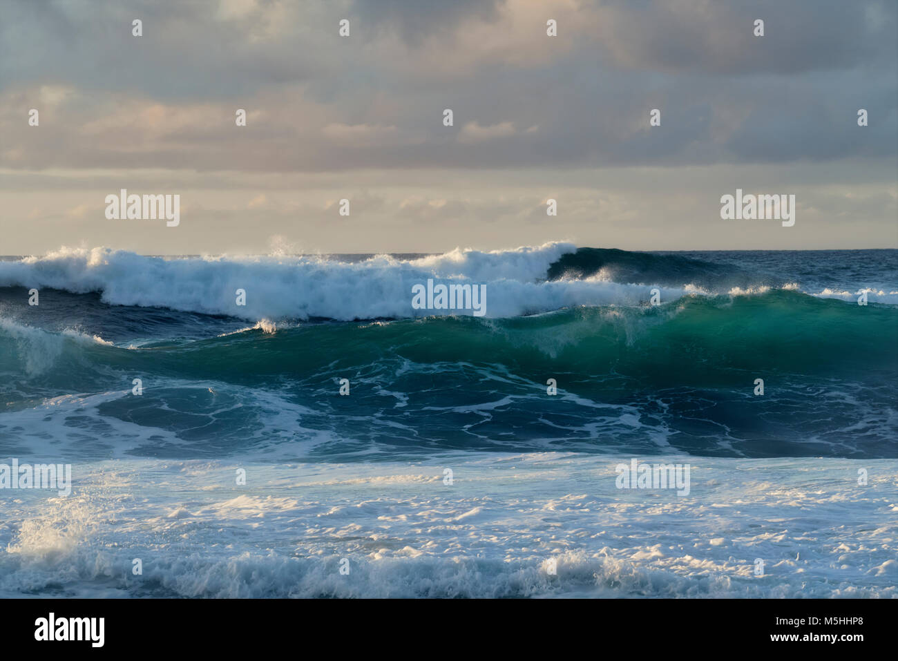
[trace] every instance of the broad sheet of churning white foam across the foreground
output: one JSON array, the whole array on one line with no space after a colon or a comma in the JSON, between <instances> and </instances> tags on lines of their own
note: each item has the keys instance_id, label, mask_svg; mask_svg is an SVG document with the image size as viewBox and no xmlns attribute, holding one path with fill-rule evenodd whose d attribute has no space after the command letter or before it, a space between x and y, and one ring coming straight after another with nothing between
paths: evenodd
<instances>
[{"instance_id":1,"label":"broad sheet of churning white foam across the foreground","mask_svg":"<svg viewBox=\"0 0 898 661\"><path fill-rule=\"evenodd\" d=\"M691 457L685 498L616 489L620 461L243 463L244 486L230 463L83 464L69 498L4 511L0 595L898 596L892 460Z\"/></svg>"}]
</instances>

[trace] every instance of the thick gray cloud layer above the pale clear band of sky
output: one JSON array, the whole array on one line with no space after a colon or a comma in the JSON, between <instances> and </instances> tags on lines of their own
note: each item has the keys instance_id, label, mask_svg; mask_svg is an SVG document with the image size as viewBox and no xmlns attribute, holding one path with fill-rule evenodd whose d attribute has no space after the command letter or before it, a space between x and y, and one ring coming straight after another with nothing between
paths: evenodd
<instances>
[{"instance_id":1,"label":"thick gray cloud layer above the pale clear band of sky","mask_svg":"<svg viewBox=\"0 0 898 661\"><path fill-rule=\"evenodd\" d=\"M757 163L888 157L898 131L898 12L879 0L97 7L10 0L0 165ZM544 33L550 13L561 21L554 39ZM349 39L337 36L342 16L355 21ZM144 21L139 39L134 17ZM764 18L765 37L752 36L753 17ZM69 92L52 108L40 100L48 86ZM128 121L154 106L157 122ZM20 130L31 107L44 113L40 132ZM258 113L242 133L238 107ZM440 121L445 107L453 128ZM871 124L859 132L861 107ZM660 128L648 128L652 108ZM84 130L103 121L104 131ZM514 129L471 137L471 127L495 126ZM378 128L391 130L375 137Z\"/></svg>"}]
</instances>

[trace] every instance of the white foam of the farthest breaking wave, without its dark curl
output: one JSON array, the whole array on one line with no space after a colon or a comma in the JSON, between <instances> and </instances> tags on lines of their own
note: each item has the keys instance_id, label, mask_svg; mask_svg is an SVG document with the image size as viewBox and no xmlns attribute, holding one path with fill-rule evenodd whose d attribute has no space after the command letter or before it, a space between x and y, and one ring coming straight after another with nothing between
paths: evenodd
<instances>
[{"instance_id":1,"label":"white foam of the farthest breaking wave, without its dark curl","mask_svg":"<svg viewBox=\"0 0 898 661\"><path fill-rule=\"evenodd\" d=\"M101 292L110 304L229 314L252 321L426 315L411 307L411 287L426 278L487 284L494 293L488 304L493 317L647 299L644 286L536 283L553 261L573 250L571 244L547 243L512 251L456 250L417 260L379 255L350 263L285 256L163 259L105 248L64 248L42 258L0 262L0 286ZM246 291L245 306L236 304L238 289Z\"/></svg>"}]
</instances>

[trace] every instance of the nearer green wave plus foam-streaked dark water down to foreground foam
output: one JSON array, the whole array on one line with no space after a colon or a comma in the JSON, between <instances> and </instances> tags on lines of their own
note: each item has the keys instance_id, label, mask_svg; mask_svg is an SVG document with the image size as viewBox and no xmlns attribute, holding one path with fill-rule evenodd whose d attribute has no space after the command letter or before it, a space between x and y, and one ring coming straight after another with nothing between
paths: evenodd
<instances>
[{"instance_id":1,"label":"nearer green wave plus foam-streaked dark water down to foreground foam","mask_svg":"<svg viewBox=\"0 0 898 661\"><path fill-rule=\"evenodd\" d=\"M40 440L52 438L77 455L263 461L895 457L896 366L898 308L788 290L502 320L264 323L141 348L4 322L0 450L57 453Z\"/></svg>"}]
</instances>

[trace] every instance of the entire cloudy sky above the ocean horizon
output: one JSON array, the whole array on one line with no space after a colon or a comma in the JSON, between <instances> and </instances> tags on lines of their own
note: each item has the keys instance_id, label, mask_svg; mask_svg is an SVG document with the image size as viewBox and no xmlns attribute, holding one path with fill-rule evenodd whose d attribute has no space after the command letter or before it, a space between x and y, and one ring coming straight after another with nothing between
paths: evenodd
<instances>
[{"instance_id":1,"label":"entire cloudy sky above the ocean horizon","mask_svg":"<svg viewBox=\"0 0 898 661\"><path fill-rule=\"evenodd\" d=\"M896 13L0 0L0 254L898 247ZM180 194L180 225L107 220L122 188ZM737 188L796 195L796 224L721 220Z\"/></svg>"}]
</instances>

